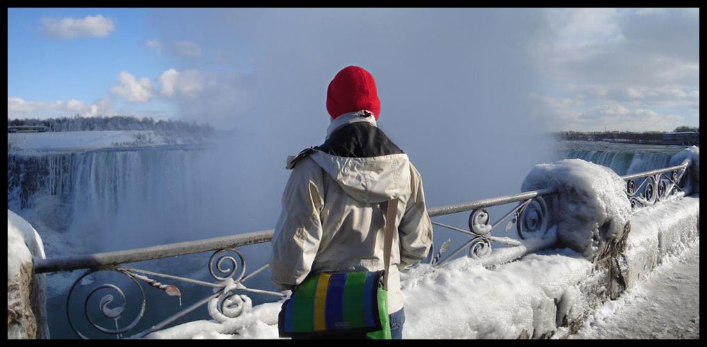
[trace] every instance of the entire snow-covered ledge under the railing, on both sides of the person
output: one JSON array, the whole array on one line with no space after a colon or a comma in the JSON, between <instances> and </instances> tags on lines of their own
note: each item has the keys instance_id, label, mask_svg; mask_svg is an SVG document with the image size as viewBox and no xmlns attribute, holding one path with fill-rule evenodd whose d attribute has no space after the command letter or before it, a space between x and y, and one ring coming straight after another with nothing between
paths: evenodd
<instances>
[{"instance_id":1,"label":"entire snow-covered ledge under the railing, on both sides of the person","mask_svg":"<svg viewBox=\"0 0 707 347\"><path fill-rule=\"evenodd\" d=\"M667 256L699 239L699 195L662 202L630 217L620 280L635 286ZM468 258L402 274L405 339L562 339L609 300L607 267L569 249L544 250L487 269ZM149 339L276 339L280 303L225 322L196 321Z\"/></svg>"}]
</instances>

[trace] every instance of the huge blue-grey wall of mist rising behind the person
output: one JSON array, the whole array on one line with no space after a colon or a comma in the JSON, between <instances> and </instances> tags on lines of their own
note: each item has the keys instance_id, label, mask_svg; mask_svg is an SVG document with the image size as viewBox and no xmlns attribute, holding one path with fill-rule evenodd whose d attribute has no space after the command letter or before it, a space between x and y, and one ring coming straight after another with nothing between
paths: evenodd
<instances>
[{"instance_id":1,"label":"huge blue-grey wall of mist rising behind the person","mask_svg":"<svg viewBox=\"0 0 707 347\"><path fill-rule=\"evenodd\" d=\"M541 11L189 8L152 23L156 39L198 41L232 67L180 100L178 116L233 130L214 201L233 207L234 232L274 227L286 156L322 143L327 85L348 65L373 74L379 126L421 172L430 207L518 193L534 164L555 158L530 115ZM209 71L184 56L173 63Z\"/></svg>"}]
</instances>

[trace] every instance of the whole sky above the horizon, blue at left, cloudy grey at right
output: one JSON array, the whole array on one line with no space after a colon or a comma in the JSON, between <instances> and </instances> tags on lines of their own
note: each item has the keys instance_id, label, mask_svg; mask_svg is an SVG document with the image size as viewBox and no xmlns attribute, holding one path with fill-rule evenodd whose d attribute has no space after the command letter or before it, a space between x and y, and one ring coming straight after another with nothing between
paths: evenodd
<instances>
[{"instance_id":1,"label":"whole sky above the horizon, blue at left, cloudy grey at right","mask_svg":"<svg viewBox=\"0 0 707 347\"><path fill-rule=\"evenodd\" d=\"M8 8L8 118L321 128L348 65L412 123L699 126L697 8Z\"/></svg>"}]
</instances>

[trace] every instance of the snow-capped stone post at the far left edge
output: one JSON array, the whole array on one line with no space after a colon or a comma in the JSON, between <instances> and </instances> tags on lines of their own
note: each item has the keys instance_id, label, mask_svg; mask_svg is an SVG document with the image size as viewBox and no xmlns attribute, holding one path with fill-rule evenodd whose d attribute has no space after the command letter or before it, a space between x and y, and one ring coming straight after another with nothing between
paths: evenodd
<instances>
[{"instance_id":1,"label":"snow-capped stone post at the far left edge","mask_svg":"<svg viewBox=\"0 0 707 347\"><path fill-rule=\"evenodd\" d=\"M22 217L7 210L7 338L49 338L45 276L34 275L33 256L45 258L42 239Z\"/></svg>"}]
</instances>

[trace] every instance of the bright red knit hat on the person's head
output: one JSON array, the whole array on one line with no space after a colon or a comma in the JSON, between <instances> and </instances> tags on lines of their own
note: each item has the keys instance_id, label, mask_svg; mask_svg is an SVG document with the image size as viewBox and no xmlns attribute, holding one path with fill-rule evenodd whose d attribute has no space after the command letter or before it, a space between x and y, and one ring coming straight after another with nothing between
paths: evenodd
<instances>
[{"instance_id":1,"label":"bright red knit hat on the person's head","mask_svg":"<svg viewBox=\"0 0 707 347\"><path fill-rule=\"evenodd\" d=\"M327 111L332 119L341 114L361 110L373 112L378 120L380 100L373 75L358 66L341 69L327 89Z\"/></svg>"}]
</instances>

